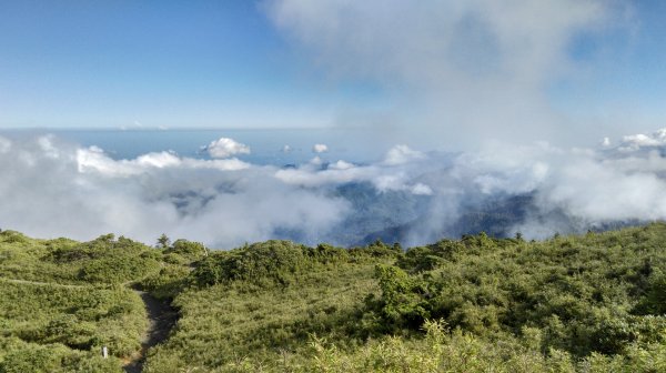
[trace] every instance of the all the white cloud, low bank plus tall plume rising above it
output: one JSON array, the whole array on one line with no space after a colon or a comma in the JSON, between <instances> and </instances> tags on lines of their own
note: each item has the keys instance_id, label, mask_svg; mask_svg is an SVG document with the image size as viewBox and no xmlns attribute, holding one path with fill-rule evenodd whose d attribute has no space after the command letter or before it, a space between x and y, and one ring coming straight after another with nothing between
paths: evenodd
<instances>
[{"instance_id":1,"label":"all the white cloud, low bank plus tall plume rising above it","mask_svg":"<svg viewBox=\"0 0 666 373\"><path fill-rule=\"evenodd\" d=\"M260 8L304 57L294 67L304 75L383 92L379 115L361 100L332 119L370 129L369 143L392 139L383 159L330 159L334 144L313 143L310 162L256 164L244 160L250 147L226 137L201 144L205 158L115 159L54 135L4 135L0 228L147 243L167 233L229 249L271 238L413 245L481 230L545 238L666 219L666 130L622 138L652 125L588 122L554 104L554 88L594 81L609 33L632 32L630 3L265 0ZM597 48L576 57L576 40ZM587 144L599 132L618 140Z\"/></svg>"}]
</instances>

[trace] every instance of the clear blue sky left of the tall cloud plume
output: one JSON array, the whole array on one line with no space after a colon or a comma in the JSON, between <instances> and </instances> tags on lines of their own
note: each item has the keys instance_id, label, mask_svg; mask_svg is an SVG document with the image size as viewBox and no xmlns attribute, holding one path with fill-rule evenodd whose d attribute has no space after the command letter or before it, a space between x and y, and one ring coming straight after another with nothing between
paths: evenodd
<instances>
[{"instance_id":1,"label":"clear blue sky left of the tall cloud plume","mask_svg":"<svg viewBox=\"0 0 666 373\"><path fill-rule=\"evenodd\" d=\"M3 1L0 125L323 125L364 94L300 63L252 1Z\"/></svg>"}]
</instances>

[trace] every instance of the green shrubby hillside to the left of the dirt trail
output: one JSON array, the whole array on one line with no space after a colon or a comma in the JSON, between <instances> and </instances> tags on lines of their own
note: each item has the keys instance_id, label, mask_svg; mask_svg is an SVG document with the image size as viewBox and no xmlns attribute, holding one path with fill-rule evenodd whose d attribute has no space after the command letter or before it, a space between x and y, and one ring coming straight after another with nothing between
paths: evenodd
<instances>
[{"instance_id":1,"label":"green shrubby hillside to the left of the dirt trail","mask_svg":"<svg viewBox=\"0 0 666 373\"><path fill-rule=\"evenodd\" d=\"M0 233L0 372L119 372L148 327L123 283L158 271L153 249ZM100 357L108 346L112 359Z\"/></svg>"}]
</instances>

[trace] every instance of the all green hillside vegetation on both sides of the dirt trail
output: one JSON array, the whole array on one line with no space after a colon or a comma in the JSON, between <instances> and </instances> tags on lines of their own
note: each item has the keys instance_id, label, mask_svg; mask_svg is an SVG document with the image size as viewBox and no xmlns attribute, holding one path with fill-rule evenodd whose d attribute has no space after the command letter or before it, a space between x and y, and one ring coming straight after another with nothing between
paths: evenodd
<instances>
[{"instance_id":1,"label":"all green hillside vegetation on both sides of the dirt trail","mask_svg":"<svg viewBox=\"0 0 666 373\"><path fill-rule=\"evenodd\" d=\"M406 251L159 246L0 233L0 372L119 371L145 330L131 284L180 312L145 372L666 371L664 223Z\"/></svg>"}]
</instances>

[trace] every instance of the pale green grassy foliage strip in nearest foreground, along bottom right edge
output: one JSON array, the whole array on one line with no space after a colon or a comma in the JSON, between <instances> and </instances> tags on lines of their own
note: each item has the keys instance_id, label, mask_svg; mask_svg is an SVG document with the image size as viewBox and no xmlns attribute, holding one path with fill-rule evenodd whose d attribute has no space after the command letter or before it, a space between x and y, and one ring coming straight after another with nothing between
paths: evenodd
<instances>
[{"instance_id":1,"label":"pale green grassy foliage strip in nearest foreground, along bottom right edge","mask_svg":"<svg viewBox=\"0 0 666 373\"><path fill-rule=\"evenodd\" d=\"M487 341L441 321L426 321L423 337L386 336L355 349L341 349L330 339L312 337L304 359L285 354L270 364L239 359L212 372L662 372L664 347L635 351L626 357L592 354L581 361L568 353L507 337ZM538 336L537 336L538 337ZM206 370L209 371L209 370Z\"/></svg>"}]
</instances>

